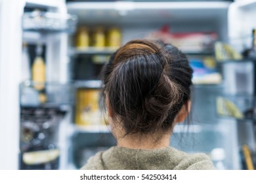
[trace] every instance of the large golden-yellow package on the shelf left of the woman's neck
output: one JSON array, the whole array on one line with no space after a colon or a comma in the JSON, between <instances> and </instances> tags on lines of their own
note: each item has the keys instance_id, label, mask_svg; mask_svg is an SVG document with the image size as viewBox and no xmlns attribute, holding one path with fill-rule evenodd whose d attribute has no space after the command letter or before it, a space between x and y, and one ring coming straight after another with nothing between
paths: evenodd
<instances>
[{"instance_id":1,"label":"large golden-yellow package on the shelf left of the woman's neck","mask_svg":"<svg viewBox=\"0 0 256 183\"><path fill-rule=\"evenodd\" d=\"M98 89L77 89L75 124L102 125L104 120L99 108Z\"/></svg>"}]
</instances>

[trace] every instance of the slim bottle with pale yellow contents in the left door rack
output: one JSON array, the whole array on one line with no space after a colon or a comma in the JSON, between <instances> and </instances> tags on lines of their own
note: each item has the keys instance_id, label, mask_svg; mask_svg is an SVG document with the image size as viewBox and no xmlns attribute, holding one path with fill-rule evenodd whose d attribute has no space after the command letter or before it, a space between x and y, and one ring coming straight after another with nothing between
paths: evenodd
<instances>
[{"instance_id":1,"label":"slim bottle with pale yellow contents in the left door rack","mask_svg":"<svg viewBox=\"0 0 256 183\"><path fill-rule=\"evenodd\" d=\"M39 101L45 103L47 96L45 94L45 61L42 57L43 46L37 45L36 56L32 65L32 80L34 88L39 91Z\"/></svg>"}]
</instances>

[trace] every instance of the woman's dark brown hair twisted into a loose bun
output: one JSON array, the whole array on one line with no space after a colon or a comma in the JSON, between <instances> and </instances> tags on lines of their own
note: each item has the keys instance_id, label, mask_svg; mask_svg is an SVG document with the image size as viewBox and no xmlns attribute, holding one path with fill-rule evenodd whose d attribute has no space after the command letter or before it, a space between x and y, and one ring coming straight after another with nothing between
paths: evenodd
<instances>
[{"instance_id":1,"label":"woman's dark brown hair twisted into a loose bun","mask_svg":"<svg viewBox=\"0 0 256 183\"><path fill-rule=\"evenodd\" d=\"M112 55L103 74L104 106L126 135L170 129L190 100L192 69L171 44L127 42Z\"/></svg>"}]
</instances>

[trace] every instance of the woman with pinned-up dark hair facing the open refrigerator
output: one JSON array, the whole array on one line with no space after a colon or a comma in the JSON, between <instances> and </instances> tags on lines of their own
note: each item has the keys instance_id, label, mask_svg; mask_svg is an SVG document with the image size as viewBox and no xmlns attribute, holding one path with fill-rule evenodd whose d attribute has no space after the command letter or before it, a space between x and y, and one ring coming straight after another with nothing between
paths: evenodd
<instances>
[{"instance_id":1,"label":"woman with pinned-up dark hair facing the open refrigerator","mask_svg":"<svg viewBox=\"0 0 256 183\"><path fill-rule=\"evenodd\" d=\"M171 44L134 40L104 67L102 101L117 140L82 169L215 169L205 154L169 146L190 111L192 69Z\"/></svg>"}]
</instances>

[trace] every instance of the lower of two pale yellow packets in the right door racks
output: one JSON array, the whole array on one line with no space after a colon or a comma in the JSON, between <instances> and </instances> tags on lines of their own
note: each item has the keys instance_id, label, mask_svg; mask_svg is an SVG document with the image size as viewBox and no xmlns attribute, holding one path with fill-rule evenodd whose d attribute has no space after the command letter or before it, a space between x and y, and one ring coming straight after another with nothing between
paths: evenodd
<instances>
[{"instance_id":1,"label":"lower of two pale yellow packets in the right door racks","mask_svg":"<svg viewBox=\"0 0 256 183\"><path fill-rule=\"evenodd\" d=\"M240 109L232 101L224 97L217 97L217 114L237 119L244 118L244 114Z\"/></svg>"}]
</instances>

